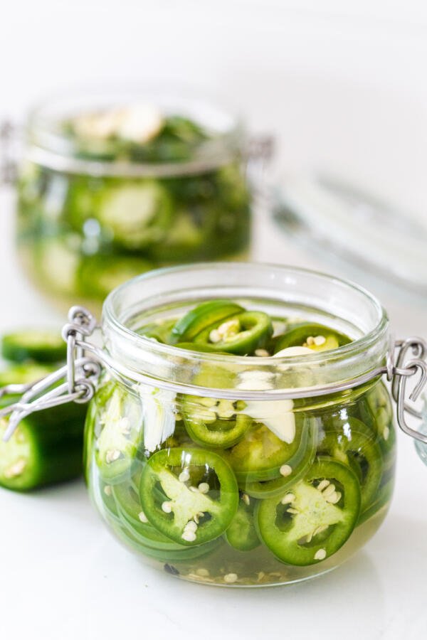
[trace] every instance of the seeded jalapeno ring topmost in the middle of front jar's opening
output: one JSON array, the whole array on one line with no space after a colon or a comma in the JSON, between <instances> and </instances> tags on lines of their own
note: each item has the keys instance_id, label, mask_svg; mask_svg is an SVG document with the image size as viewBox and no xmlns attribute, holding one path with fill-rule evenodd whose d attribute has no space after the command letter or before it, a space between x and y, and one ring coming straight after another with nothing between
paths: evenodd
<instances>
[{"instance_id":1,"label":"seeded jalapeno ring topmost in the middle of front jar's opening","mask_svg":"<svg viewBox=\"0 0 427 640\"><path fill-rule=\"evenodd\" d=\"M255 349L265 347L272 334L273 325L268 314L243 311L226 321L211 324L194 338L194 342L214 344L218 351L250 356Z\"/></svg>"}]
</instances>

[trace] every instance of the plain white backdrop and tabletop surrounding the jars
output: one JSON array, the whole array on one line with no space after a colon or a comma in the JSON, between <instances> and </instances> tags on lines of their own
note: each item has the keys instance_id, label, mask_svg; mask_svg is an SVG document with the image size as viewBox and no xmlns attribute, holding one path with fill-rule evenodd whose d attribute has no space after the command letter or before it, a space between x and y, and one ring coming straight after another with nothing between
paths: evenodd
<instances>
[{"instance_id":1,"label":"plain white backdrop and tabletop surrounding the jars","mask_svg":"<svg viewBox=\"0 0 427 640\"><path fill-rule=\"evenodd\" d=\"M408 215L427 210L423 2L18 0L1 16L0 117L19 122L46 94L108 79L190 83L275 134L278 175L322 166ZM0 329L59 322L17 270L11 204L3 194ZM317 266L265 215L255 240L260 260ZM423 300L361 278L398 334L427 335ZM2 491L0 638L426 637L427 470L399 441L396 496L376 537L332 574L275 590L215 590L147 569L110 538L80 483Z\"/></svg>"}]
</instances>

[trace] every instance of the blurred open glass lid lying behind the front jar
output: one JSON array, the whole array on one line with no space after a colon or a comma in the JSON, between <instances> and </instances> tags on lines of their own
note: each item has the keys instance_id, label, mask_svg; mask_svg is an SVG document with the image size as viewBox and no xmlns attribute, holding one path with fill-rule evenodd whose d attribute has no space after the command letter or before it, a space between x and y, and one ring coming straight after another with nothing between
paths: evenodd
<instances>
[{"instance_id":1,"label":"blurred open glass lid lying behind the front jar","mask_svg":"<svg viewBox=\"0 0 427 640\"><path fill-rule=\"evenodd\" d=\"M388 282L427 292L427 227L329 176L290 178L277 189L275 220L287 233Z\"/></svg>"}]
</instances>

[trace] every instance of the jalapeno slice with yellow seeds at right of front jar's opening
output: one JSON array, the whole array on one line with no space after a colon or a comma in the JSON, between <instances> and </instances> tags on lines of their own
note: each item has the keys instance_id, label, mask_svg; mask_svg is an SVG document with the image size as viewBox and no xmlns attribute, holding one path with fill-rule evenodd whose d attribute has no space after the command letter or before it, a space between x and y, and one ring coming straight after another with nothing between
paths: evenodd
<instances>
[{"instance_id":1,"label":"jalapeno slice with yellow seeds at right of front jar's opening","mask_svg":"<svg viewBox=\"0 0 427 640\"><path fill-rule=\"evenodd\" d=\"M312 351L328 351L349 342L347 336L330 329L329 326L302 323L292 326L283 336L275 339L274 353L290 346L306 346Z\"/></svg>"}]
</instances>

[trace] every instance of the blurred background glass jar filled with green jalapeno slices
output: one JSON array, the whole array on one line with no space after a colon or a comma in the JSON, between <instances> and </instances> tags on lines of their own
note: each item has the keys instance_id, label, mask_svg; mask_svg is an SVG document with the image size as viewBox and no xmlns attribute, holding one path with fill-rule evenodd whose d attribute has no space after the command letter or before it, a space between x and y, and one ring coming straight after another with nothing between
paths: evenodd
<instances>
[{"instance_id":1,"label":"blurred background glass jar filled with green jalapeno slices","mask_svg":"<svg viewBox=\"0 0 427 640\"><path fill-rule=\"evenodd\" d=\"M53 100L25 144L19 250L56 301L96 308L154 267L246 257L248 146L230 114L154 91Z\"/></svg>"}]
</instances>

